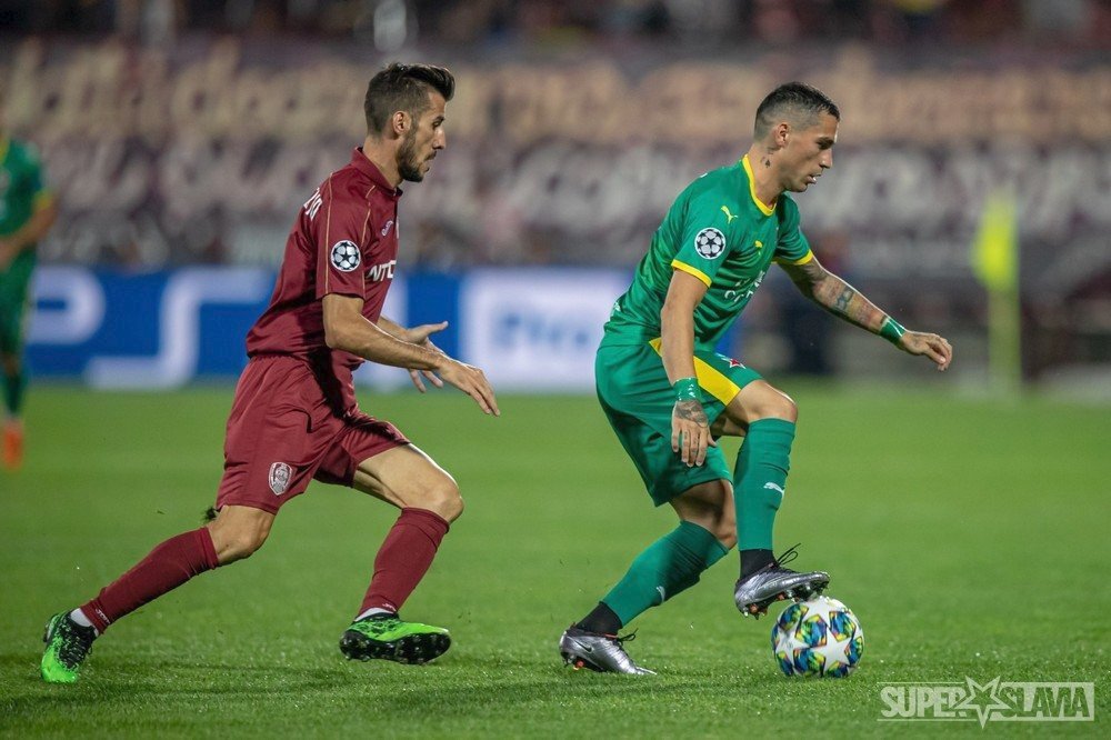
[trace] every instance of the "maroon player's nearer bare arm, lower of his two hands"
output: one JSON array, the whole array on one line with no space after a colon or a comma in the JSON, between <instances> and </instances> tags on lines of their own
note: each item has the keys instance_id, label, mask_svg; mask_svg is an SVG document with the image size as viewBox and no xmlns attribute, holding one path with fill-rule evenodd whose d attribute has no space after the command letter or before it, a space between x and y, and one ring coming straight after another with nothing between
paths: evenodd
<instances>
[{"instance_id":1,"label":"maroon player's nearer bare arm, lower of his two hands","mask_svg":"<svg viewBox=\"0 0 1111 740\"><path fill-rule=\"evenodd\" d=\"M434 372L473 398L484 413L501 416L493 389L486 379L486 373L479 368L450 358L437 348L429 349L399 339L378 324L371 323L362 314L361 298L329 293L324 296L322 304L324 342L331 349L351 352L371 362L394 368ZM424 334L426 339L428 333L431 332Z\"/></svg>"}]
</instances>

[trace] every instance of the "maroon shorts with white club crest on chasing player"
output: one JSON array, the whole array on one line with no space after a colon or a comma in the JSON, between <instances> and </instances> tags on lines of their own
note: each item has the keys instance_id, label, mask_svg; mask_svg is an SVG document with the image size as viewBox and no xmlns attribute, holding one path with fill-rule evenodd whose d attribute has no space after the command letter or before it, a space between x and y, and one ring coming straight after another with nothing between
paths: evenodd
<instances>
[{"instance_id":1,"label":"maroon shorts with white club crest on chasing player","mask_svg":"<svg viewBox=\"0 0 1111 740\"><path fill-rule=\"evenodd\" d=\"M278 513L313 478L350 486L360 462L408 443L388 421L338 416L306 362L253 358L236 387L216 506Z\"/></svg>"}]
</instances>

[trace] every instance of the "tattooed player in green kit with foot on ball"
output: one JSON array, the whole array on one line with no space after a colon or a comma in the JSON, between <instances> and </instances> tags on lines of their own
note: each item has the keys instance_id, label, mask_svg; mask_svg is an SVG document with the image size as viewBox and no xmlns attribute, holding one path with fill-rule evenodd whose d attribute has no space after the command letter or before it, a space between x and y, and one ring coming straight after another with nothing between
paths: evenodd
<instances>
[{"instance_id":1,"label":"tattooed player in green kit with foot on ball","mask_svg":"<svg viewBox=\"0 0 1111 740\"><path fill-rule=\"evenodd\" d=\"M908 331L827 272L799 228L788 191L803 192L833 166L841 113L821 91L780 86L757 110L741 161L692 182L672 204L605 324L595 360L598 398L652 501L671 504L679 527L632 562L620 582L560 638L564 662L619 673L652 673L618 637L638 614L698 582L735 543L734 601L759 616L777 600L820 593L823 571L772 554L798 411L782 391L714 346L748 304L772 262L828 311L911 354L949 367L952 348ZM717 446L743 436L730 470Z\"/></svg>"}]
</instances>

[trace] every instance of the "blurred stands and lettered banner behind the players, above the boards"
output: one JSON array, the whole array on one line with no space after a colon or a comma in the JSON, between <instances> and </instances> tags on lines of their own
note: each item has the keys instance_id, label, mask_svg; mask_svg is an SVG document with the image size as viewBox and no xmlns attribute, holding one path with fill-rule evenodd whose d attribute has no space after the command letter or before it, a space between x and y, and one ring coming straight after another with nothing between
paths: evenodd
<instances>
[{"instance_id":1,"label":"blurred stands and lettered banner behind the players, above the boards","mask_svg":"<svg viewBox=\"0 0 1111 740\"><path fill-rule=\"evenodd\" d=\"M7 124L61 203L43 263L274 267L399 59L459 79L449 151L402 207L406 270L631 269L802 79L843 113L799 197L819 257L982 361L970 249L1004 199L1030 376L1111 362L1109 52L1111 0L0 0ZM823 317L768 284L750 350L791 326L765 354L828 369ZM837 364L867 372L858 333Z\"/></svg>"}]
</instances>

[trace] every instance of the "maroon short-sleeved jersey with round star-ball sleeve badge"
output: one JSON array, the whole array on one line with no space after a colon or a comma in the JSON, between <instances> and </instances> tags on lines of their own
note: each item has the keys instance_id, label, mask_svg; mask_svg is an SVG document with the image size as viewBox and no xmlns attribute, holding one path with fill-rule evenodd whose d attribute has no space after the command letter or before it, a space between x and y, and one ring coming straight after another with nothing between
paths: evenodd
<instances>
[{"instance_id":1,"label":"maroon short-sleeved jersey with round star-ball sleeve badge","mask_svg":"<svg viewBox=\"0 0 1111 740\"><path fill-rule=\"evenodd\" d=\"M247 334L247 353L288 354L308 361L337 412L356 410L351 373L363 359L324 343L328 293L357 296L377 322L398 257L398 199L358 148L301 208L286 241L270 306Z\"/></svg>"}]
</instances>

